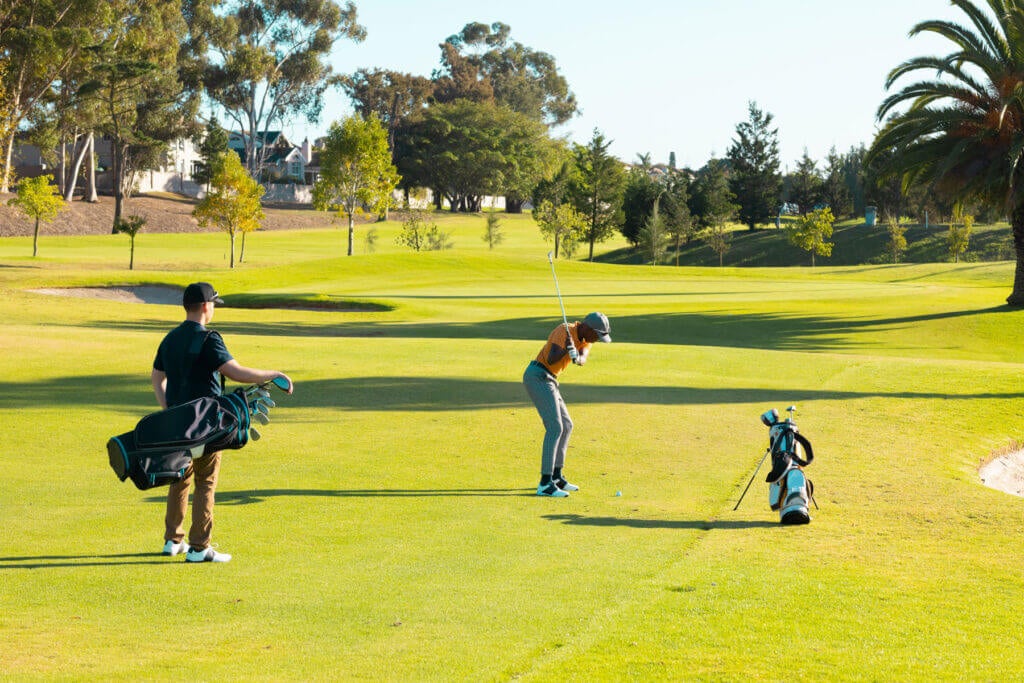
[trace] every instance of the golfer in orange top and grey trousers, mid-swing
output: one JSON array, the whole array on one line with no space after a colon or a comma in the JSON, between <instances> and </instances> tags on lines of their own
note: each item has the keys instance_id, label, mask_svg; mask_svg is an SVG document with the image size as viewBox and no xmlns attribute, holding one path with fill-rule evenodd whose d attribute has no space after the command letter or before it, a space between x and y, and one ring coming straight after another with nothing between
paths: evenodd
<instances>
[{"instance_id":1,"label":"golfer in orange top and grey trousers, mid-swing","mask_svg":"<svg viewBox=\"0 0 1024 683\"><path fill-rule=\"evenodd\" d=\"M578 366L587 362L591 345L598 341L610 342L610 332L611 326L604 313L588 313L583 321L571 325L563 318L562 325L551 332L548 342L522 375L526 393L544 422L538 496L566 498L570 490L580 490L580 486L569 483L562 473L572 420L558 390L558 376L569 362Z\"/></svg>"}]
</instances>

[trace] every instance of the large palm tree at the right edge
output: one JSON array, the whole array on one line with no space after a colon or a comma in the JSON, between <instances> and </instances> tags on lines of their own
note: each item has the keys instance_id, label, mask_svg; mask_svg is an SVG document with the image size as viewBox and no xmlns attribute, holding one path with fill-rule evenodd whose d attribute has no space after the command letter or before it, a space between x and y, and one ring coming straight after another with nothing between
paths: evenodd
<instances>
[{"instance_id":1,"label":"large palm tree at the right edge","mask_svg":"<svg viewBox=\"0 0 1024 683\"><path fill-rule=\"evenodd\" d=\"M930 20L913 27L911 36L934 33L955 49L908 59L890 72L887 89L907 74L926 71L930 77L879 106L880 121L892 116L867 162L885 164L884 173L901 176L904 188L930 183L952 199L1004 208L1017 254L1007 303L1024 306L1024 0L986 0L988 12L981 2L951 3L970 26ZM901 104L908 106L895 112Z\"/></svg>"}]
</instances>

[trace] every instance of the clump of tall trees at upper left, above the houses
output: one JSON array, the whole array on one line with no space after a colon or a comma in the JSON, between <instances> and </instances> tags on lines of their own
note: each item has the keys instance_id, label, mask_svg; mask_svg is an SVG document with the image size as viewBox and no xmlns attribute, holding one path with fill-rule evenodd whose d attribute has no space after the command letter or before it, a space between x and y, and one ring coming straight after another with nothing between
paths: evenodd
<instances>
[{"instance_id":1,"label":"clump of tall trees at upper left, above the houses","mask_svg":"<svg viewBox=\"0 0 1024 683\"><path fill-rule=\"evenodd\" d=\"M254 140L285 121L319 116L340 83L328 56L361 40L354 4L334 0L12 0L0 7L0 191L9 191L23 134L54 165L65 199L112 147L115 216L134 174L154 168L170 141L201 137L200 105L216 105ZM94 169L85 199L95 199Z\"/></svg>"}]
</instances>

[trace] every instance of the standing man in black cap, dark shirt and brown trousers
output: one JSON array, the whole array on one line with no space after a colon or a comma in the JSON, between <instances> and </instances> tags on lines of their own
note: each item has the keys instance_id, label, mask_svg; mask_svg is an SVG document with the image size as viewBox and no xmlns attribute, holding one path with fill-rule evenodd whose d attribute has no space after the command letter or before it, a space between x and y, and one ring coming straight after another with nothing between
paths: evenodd
<instances>
[{"instance_id":1,"label":"standing man in black cap, dark shirt and brown trousers","mask_svg":"<svg viewBox=\"0 0 1024 683\"><path fill-rule=\"evenodd\" d=\"M213 319L214 306L224 303L209 283L194 283L185 288L181 304L185 321L171 330L157 349L153 361L153 390L161 408L180 405L196 398L217 396L223 390L223 377L244 384L262 384L276 378L287 382L292 393L292 381L275 370L254 370L240 365L228 352L217 332L207 330ZM172 483L167 492L167 513L164 519L164 555L185 553L187 562L227 562L226 553L210 547L213 536L213 499L220 472L220 452L193 460L184 478ZM185 509L193 480L191 527L188 543L184 542Z\"/></svg>"}]
</instances>

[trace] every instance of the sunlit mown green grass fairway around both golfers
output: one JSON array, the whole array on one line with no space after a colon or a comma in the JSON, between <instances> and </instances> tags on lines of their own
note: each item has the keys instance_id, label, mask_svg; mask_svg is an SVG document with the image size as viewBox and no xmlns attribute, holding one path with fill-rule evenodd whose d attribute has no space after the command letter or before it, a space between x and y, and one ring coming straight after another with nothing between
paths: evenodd
<instances>
[{"instance_id":1,"label":"sunlit mown green grass fairway around both golfers","mask_svg":"<svg viewBox=\"0 0 1024 683\"><path fill-rule=\"evenodd\" d=\"M1024 438L1010 263L719 269L557 263L614 343L562 387L583 489L532 496L520 384L559 319L525 218L487 251L382 226L0 241L0 677L13 680L1013 680L1024 503L979 462ZM358 240L359 238L357 238ZM603 251L621 247L607 245ZM367 310L219 308L245 365L296 381L225 456L214 542L158 555L164 489L104 443L155 408L177 306L34 294L209 280ZM820 510L780 527L758 416L796 403ZM622 496L616 497L615 492Z\"/></svg>"}]
</instances>

